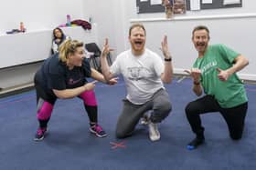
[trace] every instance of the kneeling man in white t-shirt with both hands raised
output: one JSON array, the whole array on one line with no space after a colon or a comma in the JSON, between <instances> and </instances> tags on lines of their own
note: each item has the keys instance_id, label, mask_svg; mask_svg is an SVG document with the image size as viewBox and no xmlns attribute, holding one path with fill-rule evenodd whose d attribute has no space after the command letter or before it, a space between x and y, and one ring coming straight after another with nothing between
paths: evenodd
<instances>
[{"instance_id":1,"label":"kneeling man in white t-shirt with both hands raised","mask_svg":"<svg viewBox=\"0 0 256 170\"><path fill-rule=\"evenodd\" d=\"M127 89L126 99L123 100L123 111L118 118L116 136L123 138L132 135L144 113L149 115L149 137L152 141L160 139L158 123L171 112L170 97L163 83L171 83L173 76L172 57L170 55L167 37L162 42L165 61L145 48L144 25L134 24L129 30L131 49L117 56L111 66L106 56L110 53L108 40L101 53L101 70L106 80L116 75L123 75Z\"/></svg>"}]
</instances>

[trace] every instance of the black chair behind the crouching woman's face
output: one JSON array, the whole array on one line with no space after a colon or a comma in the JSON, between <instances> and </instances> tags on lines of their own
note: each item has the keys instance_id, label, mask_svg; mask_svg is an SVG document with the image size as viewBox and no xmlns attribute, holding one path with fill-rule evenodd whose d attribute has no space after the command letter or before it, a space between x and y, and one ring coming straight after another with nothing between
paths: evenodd
<instances>
[{"instance_id":1,"label":"black chair behind the crouching woman's face","mask_svg":"<svg viewBox=\"0 0 256 170\"><path fill-rule=\"evenodd\" d=\"M85 44L85 49L93 54L90 57L92 65L97 71L101 72L101 50L99 46L96 45L96 43L89 43ZM107 61L109 65L112 65L112 58L110 54L107 56Z\"/></svg>"}]
</instances>

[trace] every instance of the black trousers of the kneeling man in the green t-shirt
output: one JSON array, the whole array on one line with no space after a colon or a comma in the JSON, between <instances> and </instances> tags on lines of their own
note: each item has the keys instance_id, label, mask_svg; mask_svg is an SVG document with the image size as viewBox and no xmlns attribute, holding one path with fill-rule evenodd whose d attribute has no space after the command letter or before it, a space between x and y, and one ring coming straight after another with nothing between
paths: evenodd
<instances>
[{"instance_id":1,"label":"black trousers of the kneeling man in the green t-shirt","mask_svg":"<svg viewBox=\"0 0 256 170\"><path fill-rule=\"evenodd\" d=\"M199 115L219 112L229 127L230 137L235 140L241 138L247 108L248 102L231 108L222 108L212 95L205 95L186 106L186 115L192 131L198 136L203 135L204 131Z\"/></svg>"}]
</instances>

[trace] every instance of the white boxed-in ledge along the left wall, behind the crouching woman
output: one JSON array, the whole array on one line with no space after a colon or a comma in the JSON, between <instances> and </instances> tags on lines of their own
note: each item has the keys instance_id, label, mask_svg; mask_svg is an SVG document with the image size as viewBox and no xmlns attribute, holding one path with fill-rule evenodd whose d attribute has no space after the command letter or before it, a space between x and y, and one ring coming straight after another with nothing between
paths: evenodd
<instances>
[{"instance_id":1,"label":"white boxed-in ledge along the left wall, behind the crouching woman","mask_svg":"<svg viewBox=\"0 0 256 170\"><path fill-rule=\"evenodd\" d=\"M81 26L62 28L65 35L84 43L97 42L97 27L85 31ZM37 31L27 34L0 36L0 87L8 88L23 85L33 81L33 76L42 64L21 65L37 62L50 55L52 31ZM37 42L37 43L35 43ZM15 48L14 48L15 46ZM7 56L7 57L6 57ZM3 69L2 67L12 66ZM0 93L1 94L1 93Z\"/></svg>"}]
</instances>

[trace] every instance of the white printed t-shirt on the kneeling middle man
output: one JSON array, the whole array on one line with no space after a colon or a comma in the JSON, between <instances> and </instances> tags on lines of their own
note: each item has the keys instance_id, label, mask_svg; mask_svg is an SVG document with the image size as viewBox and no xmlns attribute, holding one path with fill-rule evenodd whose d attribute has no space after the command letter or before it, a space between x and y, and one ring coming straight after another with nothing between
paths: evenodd
<instances>
[{"instance_id":1,"label":"white printed t-shirt on the kneeling middle man","mask_svg":"<svg viewBox=\"0 0 256 170\"><path fill-rule=\"evenodd\" d=\"M134 56L127 50L117 56L111 68L113 75L123 75L127 95L126 98L135 105L142 105L164 85L161 74L164 73L162 58L149 49L144 54Z\"/></svg>"}]
</instances>

